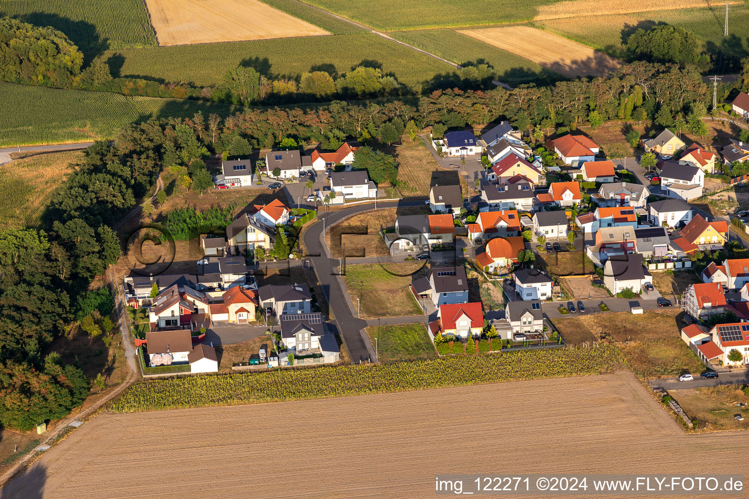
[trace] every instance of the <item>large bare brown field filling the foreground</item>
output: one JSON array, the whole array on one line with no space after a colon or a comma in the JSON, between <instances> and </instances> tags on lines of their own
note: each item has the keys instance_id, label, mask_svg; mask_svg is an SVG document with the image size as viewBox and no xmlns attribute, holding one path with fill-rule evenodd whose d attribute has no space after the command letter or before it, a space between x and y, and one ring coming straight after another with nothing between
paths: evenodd
<instances>
[{"instance_id":1,"label":"large bare brown field filling the foreground","mask_svg":"<svg viewBox=\"0 0 749 499\"><path fill-rule=\"evenodd\" d=\"M431 498L444 473L736 474L745 436L685 435L629 373L107 414L0 498Z\"/></svg>"}]
</instances>

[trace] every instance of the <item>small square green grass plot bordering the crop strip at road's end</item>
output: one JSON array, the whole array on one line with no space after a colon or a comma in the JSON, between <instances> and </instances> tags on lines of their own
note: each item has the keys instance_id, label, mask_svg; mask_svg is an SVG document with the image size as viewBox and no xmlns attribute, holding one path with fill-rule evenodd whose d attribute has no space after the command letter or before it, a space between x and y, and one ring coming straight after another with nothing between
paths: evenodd
<instances>
[{"instance_id":1,"label":"small square green grass plot bordering the crop strip at road's end","mask_svg":"<svg viewBox=\"0 0 749 499\"><path fill-rule=\"evenodd\" d=\"M423 324L372 325L366 331L372 346L377 343L380 362L437 357Z\"/></svg>"}]
</instances>

